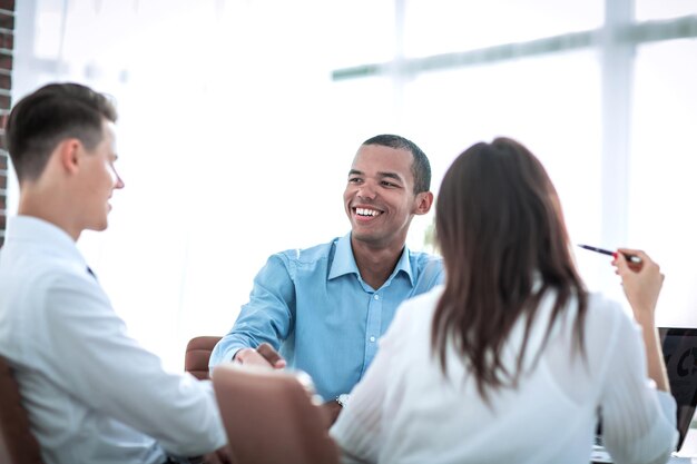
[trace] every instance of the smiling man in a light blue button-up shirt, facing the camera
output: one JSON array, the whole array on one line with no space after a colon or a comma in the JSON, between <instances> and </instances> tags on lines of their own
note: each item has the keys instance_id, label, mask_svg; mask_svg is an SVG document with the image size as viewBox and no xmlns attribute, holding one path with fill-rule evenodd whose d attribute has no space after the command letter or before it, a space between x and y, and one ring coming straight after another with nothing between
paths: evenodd
<instances>
[{"instance_id":1,"label":"smiling man in a light blue button-up shirt, facing the camera","mask_svg":"<svg viewBox=\"0 0 697 464\"><path fill-rule=\"evenodd\" d=\"M324 399L350 393L397 306L443 280L440 258L405 246L412 218L433 203L430 184L429 159L412 141L394 135L364 141L344 191L351 233L272 255L210 367L268 364L255 351L266 342L282 356L274 367L308 373Z\"/></svg>"}]
</instances>

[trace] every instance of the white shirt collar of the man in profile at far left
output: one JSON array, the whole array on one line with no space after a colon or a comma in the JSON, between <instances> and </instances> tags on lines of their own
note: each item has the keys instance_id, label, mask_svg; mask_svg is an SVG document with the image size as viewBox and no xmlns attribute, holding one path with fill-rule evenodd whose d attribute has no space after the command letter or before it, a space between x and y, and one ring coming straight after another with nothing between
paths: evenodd
<instances>
[{"instance_id":1,"label":"white shirt collar of the man in profile at far left","mask_svg":"<svg viewBox=\"0 0 697 464\"><path fill-rule=\"evenodd\" d=\"M58 226L33 216L8 218L6 243L29 244L46 249L47 254L60 256L87 267L85 257L72 237Z\"/></svg>"}]
</instances>

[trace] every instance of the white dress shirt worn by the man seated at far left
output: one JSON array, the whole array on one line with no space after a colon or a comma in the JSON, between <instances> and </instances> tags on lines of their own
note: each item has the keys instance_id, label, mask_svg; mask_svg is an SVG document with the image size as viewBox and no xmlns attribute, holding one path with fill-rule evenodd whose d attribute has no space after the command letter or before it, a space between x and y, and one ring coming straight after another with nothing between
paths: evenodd
<instances>
[{"instance_id":1,"label":"white dress shirt worn by the man seated at far left","mask_svg":"<svg viewBox=\"0 0 697 464\"><path fill-rule=\"evenodd\" d=\"M210 383L165 372L70 236L37 218L10 218L0 250L0 354L47 464L163 463L227 442Z\"/></svg>"}]
</instances>

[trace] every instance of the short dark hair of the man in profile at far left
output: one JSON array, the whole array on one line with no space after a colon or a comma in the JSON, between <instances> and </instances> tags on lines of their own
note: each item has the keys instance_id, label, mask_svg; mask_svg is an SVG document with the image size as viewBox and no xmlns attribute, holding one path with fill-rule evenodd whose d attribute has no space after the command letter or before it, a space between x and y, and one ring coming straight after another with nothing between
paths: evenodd
<instances>
[{"instance_id":1,"label":"short dark hair of the man in profile at far left","mask_svg":"<svg viewBox=\"0 0 697 464\"><path fill-rule=\"evenodd\" d=\"M79 83L49 83L22 98L6 125L6 146L19 180L41 176L56 146L67 138L94 149L102 121L116 122L116 108L102 93Z\"/></svg>"}]
</instances>

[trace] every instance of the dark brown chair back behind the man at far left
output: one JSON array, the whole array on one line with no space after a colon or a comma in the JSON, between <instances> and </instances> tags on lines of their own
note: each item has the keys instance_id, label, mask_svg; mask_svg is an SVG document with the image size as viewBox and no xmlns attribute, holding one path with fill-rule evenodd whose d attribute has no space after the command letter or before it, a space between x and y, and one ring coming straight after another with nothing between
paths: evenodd
<instances>
[{"instance_id":1,"label":"dark brown chair back behind the man at far left","mask_svg":"<svg viewBox=\"0 0 697 464\"><path fill-rule=\"evenodd\" d=\"M0 356L0 463L42 464L41 448L29 428L12 368Z\"/></svg>"}]
</instances>

